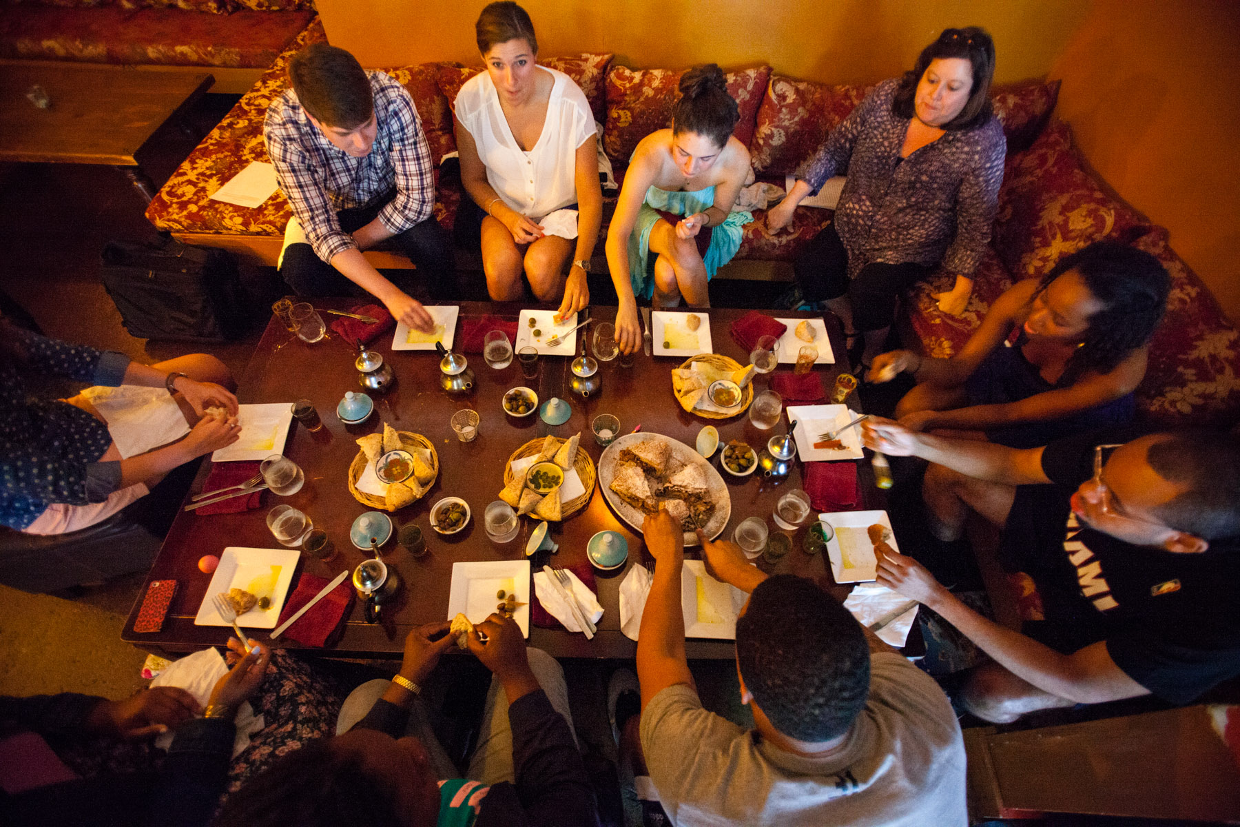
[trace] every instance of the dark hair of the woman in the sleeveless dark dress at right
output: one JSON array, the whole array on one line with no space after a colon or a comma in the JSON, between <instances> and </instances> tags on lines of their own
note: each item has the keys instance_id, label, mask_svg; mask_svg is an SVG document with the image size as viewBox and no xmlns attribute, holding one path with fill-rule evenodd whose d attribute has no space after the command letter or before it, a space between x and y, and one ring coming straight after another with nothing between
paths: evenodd
<instances>
[{"instance_id":1,"label":"dark hair of the woman in the sleeveless dark dress at right","mask_svg":"<svg viewBox=\"0 0 1240 827\"><path fill-rule=\"evenodd\" d=\"M1038 285L1040 295L1068 270L1076 270L1102 310L1089 320L1085 341L1060 379L1070 384L1087 371L1110 373L1153 336L1167 310L1171 276L1158 259L1118 242L1094 242L1055 263Z\"/></svg>"}]
</instances>

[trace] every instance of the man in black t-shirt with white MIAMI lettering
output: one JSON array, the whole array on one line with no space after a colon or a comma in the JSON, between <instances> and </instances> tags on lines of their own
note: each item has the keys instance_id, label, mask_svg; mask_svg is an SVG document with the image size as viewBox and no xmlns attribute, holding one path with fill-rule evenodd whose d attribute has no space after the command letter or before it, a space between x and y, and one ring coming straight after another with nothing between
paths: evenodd
<instances>
[{"instance_id":1,"label":"man in black t-shirt with white MIAMI lettering","mask_svg":"<svg viewBox=\"0 0 1240 827\"><path fill-rule=\"evenodd\" d=\"M1001 562L1037 586L1044 619L1012 631L968 609L920 563L879 559L879 583L919 600L993 658L970 676L970 712L996 723L1034 709L1156 694L1189 703L1240 674L1240 436L1081 435L1017 450L869 419L866 444L1016 486ZM1009 489L1011 490L1011 489ZM983 492L985 493L985 492ZM928 498L932 492L928 492Z\"/></svg>"}]
</instances>

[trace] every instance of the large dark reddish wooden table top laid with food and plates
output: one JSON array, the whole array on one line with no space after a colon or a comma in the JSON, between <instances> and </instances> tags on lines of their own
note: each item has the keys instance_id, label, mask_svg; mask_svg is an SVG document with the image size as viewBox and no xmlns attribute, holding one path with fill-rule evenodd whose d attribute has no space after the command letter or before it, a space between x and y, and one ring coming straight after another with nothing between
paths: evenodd
<instances>
[{"instance_id":1,"label":"large dark reddish wooden table top laid with food and plates","mask_svg":"<svg viewBox=\"0 0 1240 827\"><path fill-rule=\"evenodd\" d=\"M317 300L319 307L347 309L347 300ZM520 306L464 303L460 305L460 319L497 314L515 319ZM615 310L611 307L593 307L593 317L598 321L611 321ZM740 310L712 310L711 335L714 352L723 353L746 365L748 352L733 340L729 326L740 317ZM787 316L806 316L794 314ZM842 352L842 340L838 326L828 319L827 325L836 353ZM458 321L458 336L461 330ZM584 332L585 327L582 329ZM568 388L569 360L564 357L539 357L537 379L526 381L521 374L517 360L507 368L492 369L482 361L481 355L470 355L470 367L474 368L476 384L471 396L451 397L439 387L439 358L434 351L392 351L391 334L377 340L376 347L392 365L397 374L397 384L386 397L379 398L376 413L362 425L347 427L335 415L336 403L343 393L357 389L357 371L353 368L356 351L351 351L340 338L332 337L315 345L306 345L289 334L284 326L273 320L268 325L262 341L255 348L246 376L241 382L239 399L243 403L289 402L305 397L315 403L324 428L311 434L294 423L285 446L285 455L296 461L304 470L306 482L298 493L290 497L267 496L264 507L239 515L212 515L198 517L193 512L181 512L169 531L159 557L148 575L151 579L172 578L180 582L180 589L172 601L164 631L157 634L135 634L133 631L138 606L130 613L122 635L123 640L146 650L156 651L193 651L205 646L222 645L231 630L219 626L195 626L193 616L205 596L210 577L201 574L196 563L203 554L218 554L228 546L274 548L275 542L267 529L264 516L267 510L278 502L288 502L305 511L315 526L326 528L340 553L330 563L309 560L303 555L300 570L309 570L320 577L331 578L342 569L352 570L370 557L352 547L348 541L348 528L352 521L367 511L350 495L346 486L346 469L357 454L353 441L381 429L381 422L387 420L401 430L424 434L439 453L440 474L433 489L418 502L399 510L393 518L397 524L415 522L428 538L430 553L422 559L413 559L405 552L398 551L393 541L384 547L384 560L396 565L404 582L396 611L387 613L379 625L368 625L362 619L360 601L355 601L352 614L346 621L346 629L340 642L324 653L348 657L389 657L403 650L404 637L409 629L418 624L444 620L448 613L448 593L453 563L460 560L512 560L522 559L526 539L533 528L533 522L522 520L517 539L496 544L487 537L480 524L482 511L495 501L502 487L503 464L507 458L526 441L546 434L560 438L582 433L582 446L585 448L595 464L603 449L590 431L590 422L596 414L610 413L620 419L621 433L631 431L637 424L647 433L666 434L687 445L693 445L698 430L706 424L719 429L722 441L743 439L756 448L765 446L766 439L779 430L759 430L754 428L745 414L725 420L706 420L684 412L672 394L671 369L683 360L675 357L649 357L639 352L632 367L620 366L619 360L604 362L600 369L601 391L589 399L582 400ZM580 342L580 338L578 340ZM580 345L578 345L580 352ZM781 365L779 371L789 371L791 366ZM830 388L836 366L815 368ZM769 374L774 376L774 373ZM755 379L758 389L766 386L768 377ZM533 387L539 399L560 397L573 405L572 418L563 425L549 427L537 415L515 419L503 413L501 397L508 388L527 384ZM857 394L849 399L857 404ZM456 440L449 425L451 414L461 408L475 408L480 417L479 436L472 443ZM782 428L782 427L781 427ZM718 453L714 462L718 467ZM191 492L198 492L210 470L210 462L203 462L202 470ZM863 489L874 492L873 477L868 462L862 462L861 476ZM723 537L732 537L733 528L745 517L769 517L780 493L800 487L800 466L784 480L763 479L758 472L749 477L737 479L722 472L728 482L732 496L732 518ZM441 537L434 533L428 522L429 507L444 496L464 497L472 512L469 526L458 536ZM870 496L870 493L867 493ZM878 506L880 507L880 506ZM554 557L557 565L575 565L585 562L587 541L599 531L610 528L619 531L629 541L630 560L641 559L646 552L641 536L631 531L611 512L601 485L595 486L587 508L563 523L552 523L552 533L559 543L559 553ZM774 526L771 532L779 531ZM801 551L802 528L794 536L794 551L779 564L779 570L795 570L810 577L823 575L823 554L806 555ZM687 552L697 557L696 549ZM537 558L536 558L537 559ZM647 558L649 559L649 558ZM599 632L593 641L583 635L572 635L564 630L541 629L531 626L529 643L538 646L556 657L632 657L636 643L620 632L619 585L627 569L598 575L599 603L604 608L599 622ZM830 574L826 574L830 582ZM836 586L837 596L843 598L848 588ZM145 586L141 594L145 594ZM263 640L264 634L257 631L254 637ZM280 639L284 645L298 645ZM732 641L691 640L688 656L692 658L732 658Z\"/></svg>"}]
</instances>

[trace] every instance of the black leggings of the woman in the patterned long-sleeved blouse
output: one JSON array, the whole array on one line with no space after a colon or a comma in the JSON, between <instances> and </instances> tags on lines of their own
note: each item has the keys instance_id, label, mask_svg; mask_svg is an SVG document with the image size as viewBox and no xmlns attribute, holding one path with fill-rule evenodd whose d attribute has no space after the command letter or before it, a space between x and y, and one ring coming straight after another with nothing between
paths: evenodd
<instances>
[{"instance_id":1,"label":"black leggings of the woman in the patterned long-sleeved blouse","mask_svg":"<svg viewBox=\"0 0 1240 827\"><path fill-rule=\"evenodd\" d=\"M890 327L895 301L910 286L930 275L925 264L867 264L856 279L848 278L848 250L839 241L836 226L813 237L792 263L792 273L806 301L826 301L847 294L853 306L853 325L858 332Z\"/></svg>"}]
</instances>

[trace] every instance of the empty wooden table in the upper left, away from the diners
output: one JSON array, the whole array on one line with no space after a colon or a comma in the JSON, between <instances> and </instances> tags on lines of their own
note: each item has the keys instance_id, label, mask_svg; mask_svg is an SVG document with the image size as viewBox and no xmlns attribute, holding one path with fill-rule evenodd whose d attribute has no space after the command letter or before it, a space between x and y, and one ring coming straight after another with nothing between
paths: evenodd
<instances>
[{"instance_id":1,"label":"empty wooden table in the upper left, away from the diners","mask_svg":"<svg viewBox=\"0 0 1240 827\"><path fill-rule=\"evenodd\" d=\"M0 160L108 164L150 203L155 186L143 172L138 151L212 83L215 77L206 72L0 61ZM26 97L36 86L51 103L46 109Z\"/></svg>"}]
</instances>

